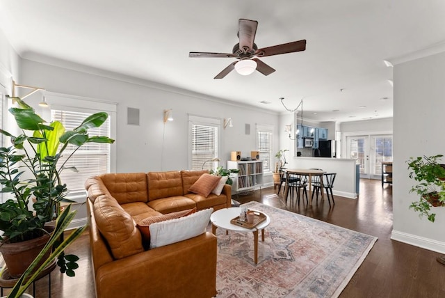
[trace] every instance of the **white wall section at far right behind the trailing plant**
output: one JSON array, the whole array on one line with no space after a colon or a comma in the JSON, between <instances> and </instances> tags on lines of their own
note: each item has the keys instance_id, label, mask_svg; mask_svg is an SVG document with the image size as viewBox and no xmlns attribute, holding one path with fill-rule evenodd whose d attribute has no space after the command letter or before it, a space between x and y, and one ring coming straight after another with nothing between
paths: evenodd
<instances>
[{"instance_id":1,"label":"white wall section at far right behind the trailing plant","mask_svg":"<svg viewBox=\"0 0 445 298\"><path fill-rule=\"evenodd\" d=\"M392 239L445 253L445 208L433 207L435 223L409 210L406 160L445 154L445 53L394 66L394 162Z\"/></svg>"}]
</instances>

